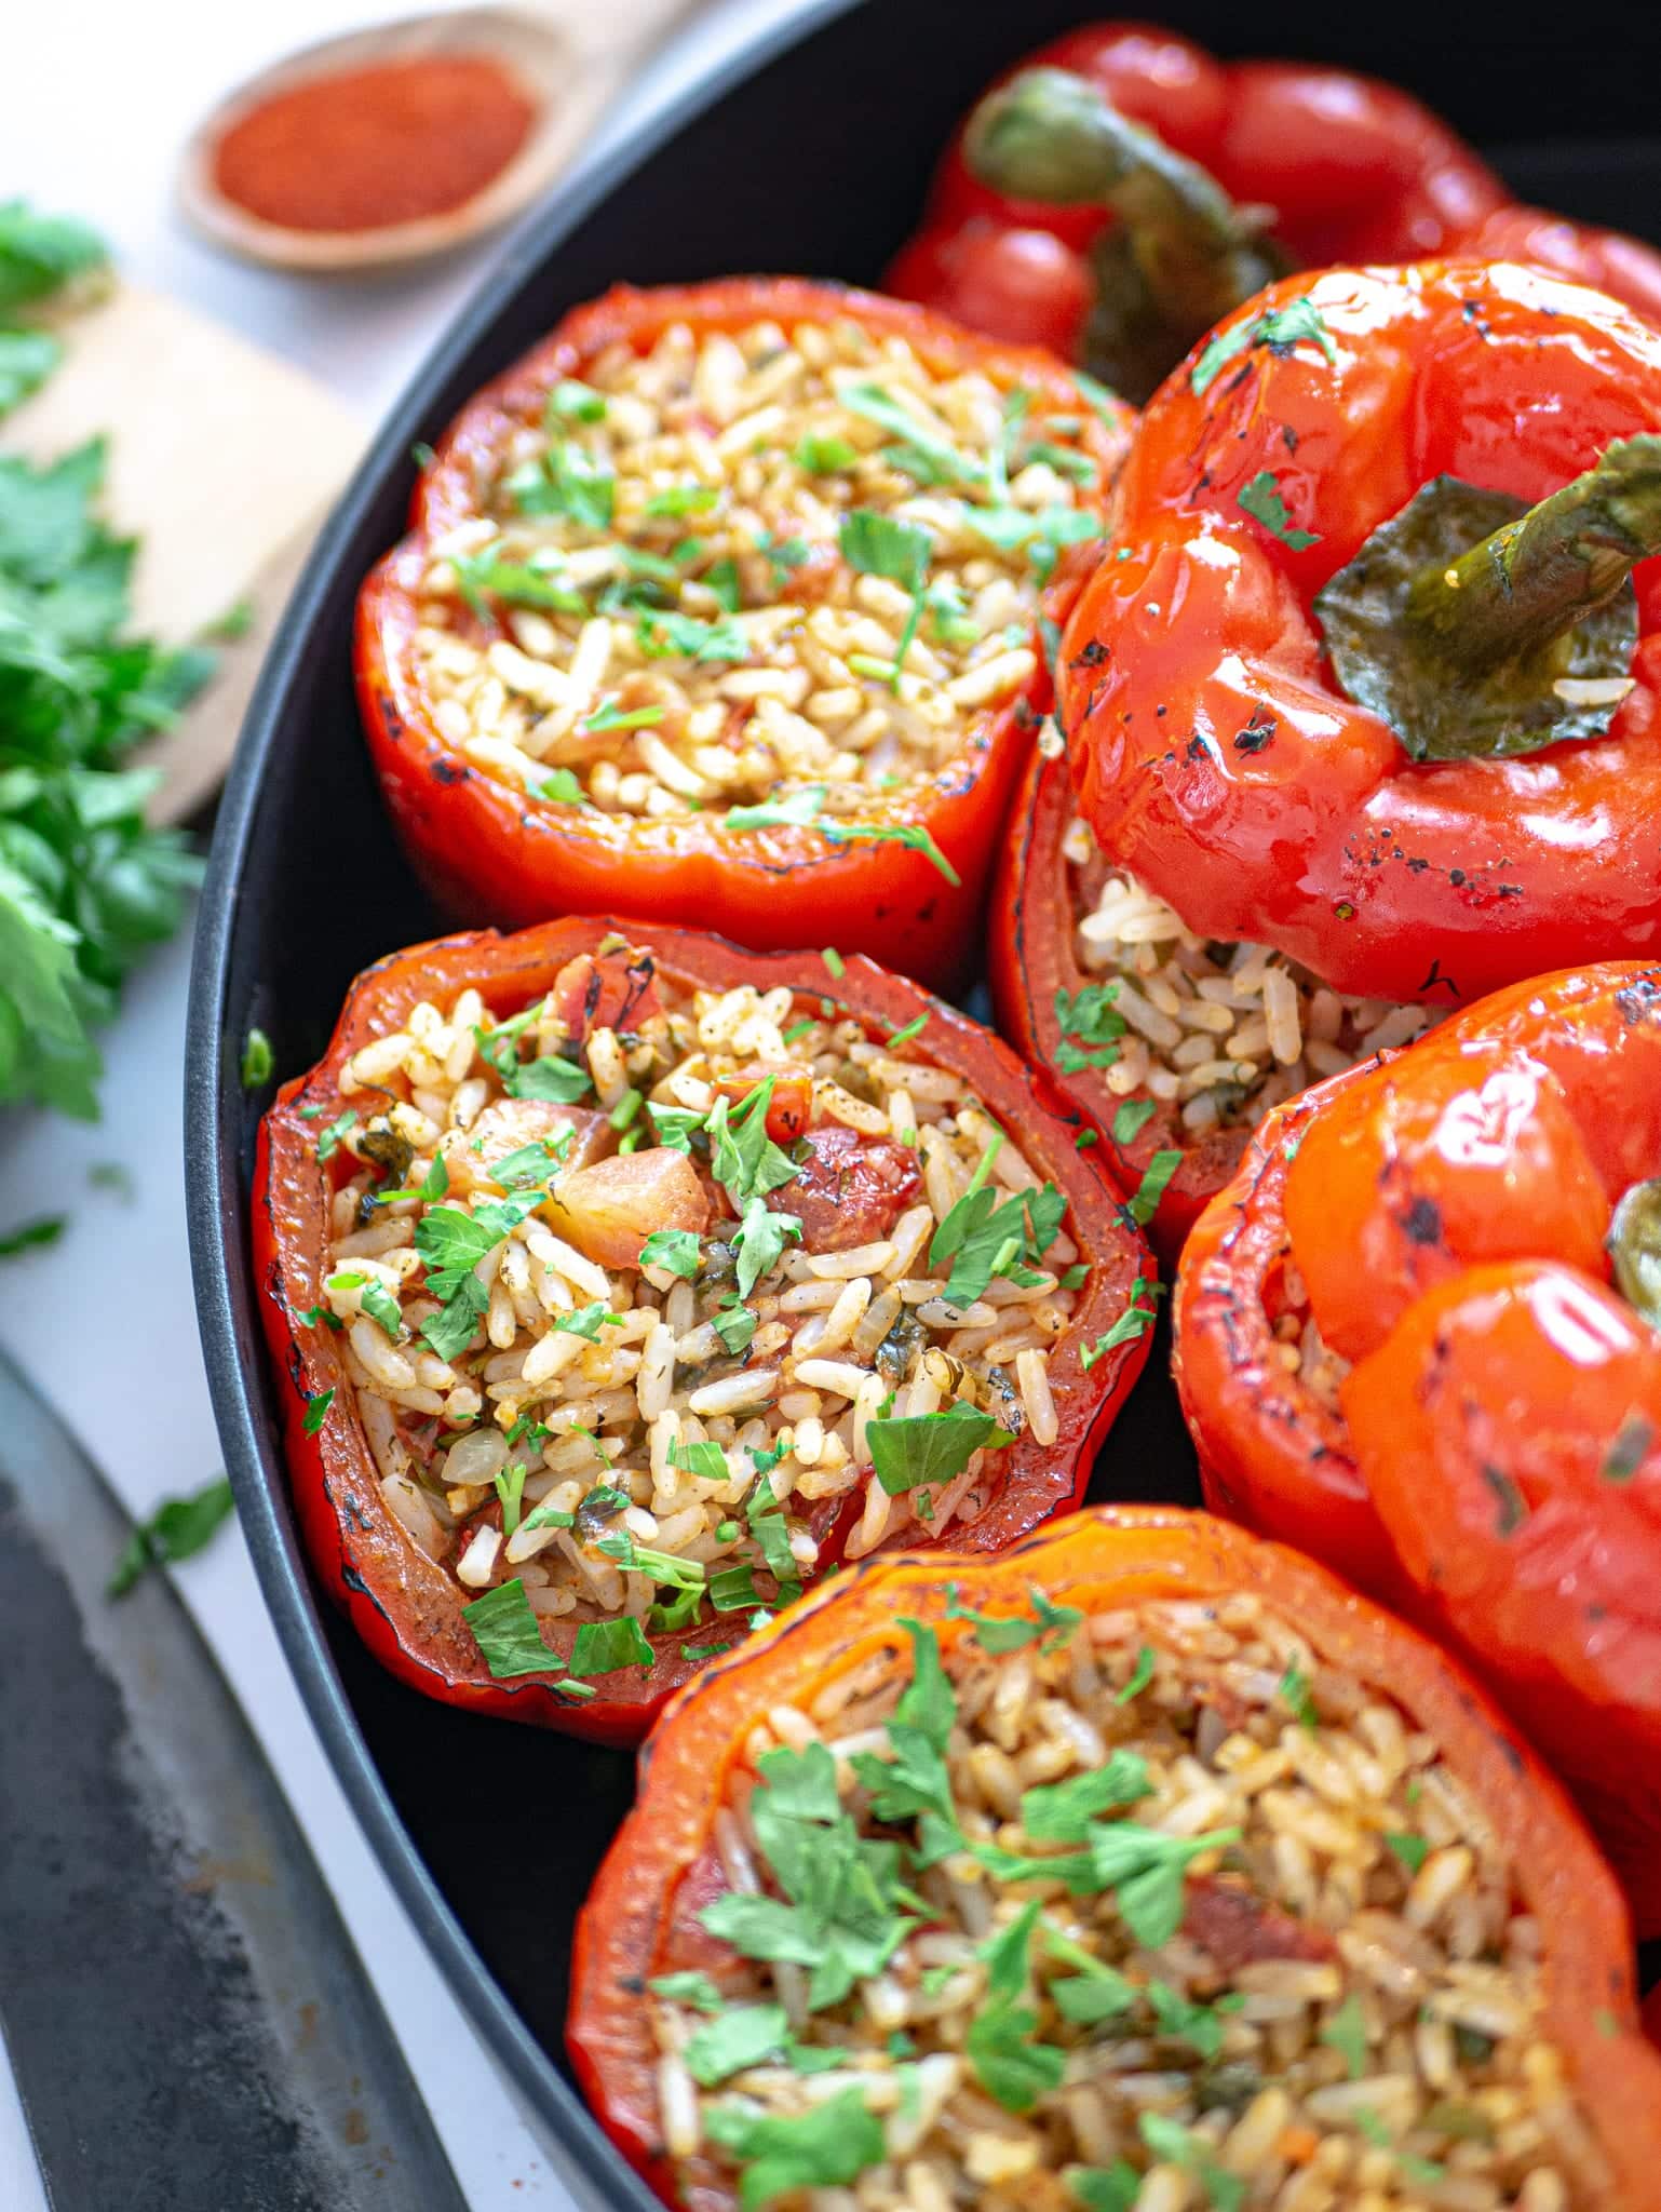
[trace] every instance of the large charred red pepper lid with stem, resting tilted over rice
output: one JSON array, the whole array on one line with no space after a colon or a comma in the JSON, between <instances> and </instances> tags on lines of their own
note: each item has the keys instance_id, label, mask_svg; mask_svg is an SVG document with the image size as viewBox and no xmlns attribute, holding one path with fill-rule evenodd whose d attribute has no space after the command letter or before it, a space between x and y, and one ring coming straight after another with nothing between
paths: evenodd
<instances>
[{"instance_id":1,"label":"large charred red pepper lid with stem, resting tilted over rice","mask_svg":"<svg viewBox=\"0 0 1661 2212\"><path fill-rule=\"evenodd\" d=\"M1661 942L1657 429L1661 336L1528 270L1241 310L1148 409L1068 622L1104 852L1382 1000Z\"/></svg>"}]
</instances>

